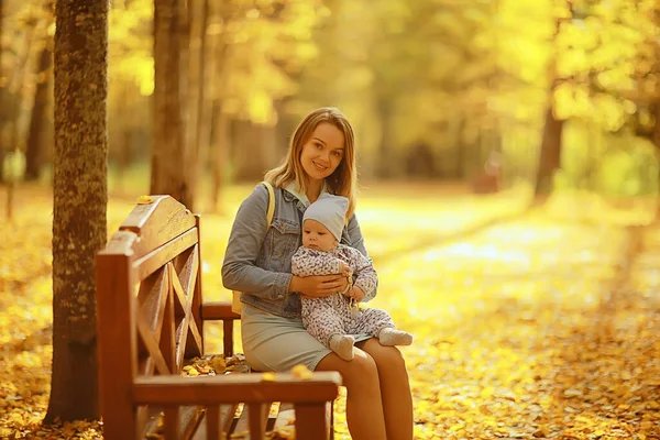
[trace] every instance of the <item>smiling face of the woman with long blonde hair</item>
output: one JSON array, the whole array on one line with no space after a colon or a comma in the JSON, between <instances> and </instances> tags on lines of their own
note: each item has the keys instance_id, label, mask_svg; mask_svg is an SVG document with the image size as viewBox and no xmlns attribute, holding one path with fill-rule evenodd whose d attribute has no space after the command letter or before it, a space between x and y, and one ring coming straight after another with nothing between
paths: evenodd
<instances>
[{"instance_id":1,"label":"smiling face of the woman with long blonde hair","mask_svg":"<svg viewBox=\"0 0 660 440\"><path fill-rule=\"evenodd\" d=\"M302 145L300 164L310 180L323 180L330 176L344 155L344 136L329 122L321 122Z\"/></svg>"}]
</instances>

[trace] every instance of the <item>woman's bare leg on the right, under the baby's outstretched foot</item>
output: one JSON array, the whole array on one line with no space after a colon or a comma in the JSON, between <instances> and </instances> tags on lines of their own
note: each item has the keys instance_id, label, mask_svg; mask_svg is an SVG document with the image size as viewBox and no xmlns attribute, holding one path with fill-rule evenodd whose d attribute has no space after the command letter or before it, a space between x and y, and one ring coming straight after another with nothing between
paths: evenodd
<instances>
[{"instance_id":1,"label":"woman's bare leg on the right, under the baby's outstretched foot","mask_svg":"<svg viewBox=\"0 0 660 440\"><path fill-rule=\"evenodd\" d=\"M381 345L374 338L358 346L371 355L378 370L387 440L411 440L413 395L402 352L394 346Z\"/></svg>"}]
</instances>

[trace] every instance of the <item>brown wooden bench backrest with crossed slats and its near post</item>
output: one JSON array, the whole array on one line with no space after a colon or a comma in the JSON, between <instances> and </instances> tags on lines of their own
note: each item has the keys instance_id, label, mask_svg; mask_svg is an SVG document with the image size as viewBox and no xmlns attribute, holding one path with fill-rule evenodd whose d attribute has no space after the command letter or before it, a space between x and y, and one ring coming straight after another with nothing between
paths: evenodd
<instances>
[{"instance_id":1,"label":"brown wooden bench backrest with crossed slats and its near post","mask_svg":"<svg viewBox=\"0 0 660 440\"><path fill-rule=\"evenodd\" d=\"M97 255L99 386L105 436L141 436L138 376L180 373L202 355L199 217L169 196L138 205Z\"/></svg>"}]
</instances>

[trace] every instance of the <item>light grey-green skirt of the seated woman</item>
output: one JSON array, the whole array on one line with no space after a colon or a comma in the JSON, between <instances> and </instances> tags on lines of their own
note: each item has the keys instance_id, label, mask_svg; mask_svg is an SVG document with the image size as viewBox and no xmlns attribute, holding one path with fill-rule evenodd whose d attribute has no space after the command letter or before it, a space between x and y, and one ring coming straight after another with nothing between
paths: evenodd
<instances>
[{"instance_id":1,"label":"light grey-green skirt of the seated woman","mask_svg":"<svg viewBox=\"0 0 660 440\"><path fill-rule=\"evenodd\" d=\"M241 337L245 361L255 371L286 372L298 364L316 370L330 349L309 334L301 319L284 318L243 304ZM355 336L355 342L370 339Z\"/></svg>"}]
</instances>

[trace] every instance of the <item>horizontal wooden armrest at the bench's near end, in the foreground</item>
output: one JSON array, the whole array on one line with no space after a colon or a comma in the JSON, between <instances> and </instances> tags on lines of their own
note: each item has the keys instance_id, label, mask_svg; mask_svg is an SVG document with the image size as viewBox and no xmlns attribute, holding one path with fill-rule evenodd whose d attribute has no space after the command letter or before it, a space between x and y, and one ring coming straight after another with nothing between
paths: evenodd
<instances>
[{"instance_id":1,"label":"horizontal wooden armrest at the bench's near end, in the foreground","mask_svg":"<svg viewBox=\"0 0 660 440\"><path fill-rule=\"evenodd\" d=\"M276 373L274 381L261 374L227 374L182 378L173 376L138 377L133 385L135 404L217 405L243 402L320 403L334 400L341 375L337 372L314 373L309 380L290 373Z\"/></svg>"}]
</instances>

